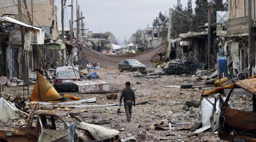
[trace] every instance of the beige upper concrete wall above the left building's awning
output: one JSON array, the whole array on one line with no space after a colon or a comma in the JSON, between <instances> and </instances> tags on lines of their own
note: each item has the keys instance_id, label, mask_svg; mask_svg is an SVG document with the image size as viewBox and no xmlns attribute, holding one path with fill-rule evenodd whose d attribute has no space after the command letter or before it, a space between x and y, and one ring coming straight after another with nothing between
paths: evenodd
<instances>
[{"instance_id":1,"label":"beige upper concrete wall above the left building's awning","mask_svg":"<svg viewBox=\"0 0 256 142\"><path fill-rule=\"evenodd\" d=\"M14 1L14 2L13 2ZM0 0L0 15L3 13L18 13L18 0ZM30 13L30 18L32 20L32 24L34 26L43 26L49 27L50 29L50 37L52 39L57 38L57 20L56 20L56 6L55 0L26 0L27 10L25 9L25 5L23 0L22 2L22 22L29 23L29 18L27 15L27 11ZM8 6L8 7L7 7ZM11 16L19 20L18 15Z\"/></svg>"}]
</instances>

